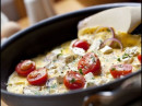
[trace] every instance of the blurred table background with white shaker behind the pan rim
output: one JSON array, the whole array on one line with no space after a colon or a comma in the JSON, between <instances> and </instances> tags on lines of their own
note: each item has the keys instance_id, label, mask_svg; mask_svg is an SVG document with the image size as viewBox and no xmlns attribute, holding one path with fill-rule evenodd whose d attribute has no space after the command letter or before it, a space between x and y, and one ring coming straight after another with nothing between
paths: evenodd
<instances>
[{"instance_id":1,"label":"blurred table background with white shaker behind the pan rim","mask_svg":"<svg viewBox=\"0 0 142 106\"><path fill-rule=\"evenodd\" d=\"M1 0L1 38L54 15L116 2L141 0Z\"/></svg>"}]
</instances>

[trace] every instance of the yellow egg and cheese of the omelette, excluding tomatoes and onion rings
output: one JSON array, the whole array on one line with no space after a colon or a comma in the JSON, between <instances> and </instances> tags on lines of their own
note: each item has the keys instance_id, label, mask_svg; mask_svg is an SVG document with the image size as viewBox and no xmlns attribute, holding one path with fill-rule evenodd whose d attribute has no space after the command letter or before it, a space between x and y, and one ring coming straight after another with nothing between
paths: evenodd
<instances>
[{"instance_id":1,"label":"yellow egg and cheese of the omelette, excluding tomatoes and onion rings","mask_svg":"<svg viewBox=\"0 0 142 106\"><path fill-rule=\"evenodd\" d=\"M85 74L86 82L84 89L99 86L114 81L115 79L110 74L110 67L113 64L130 63L133 68L132 71L138 71L141 69L141 63L137 57L141 54L141 36L117 31L115 33L115 37L122 44L122 50L117 43L114 43L113 46L105 45L100 48L102 43L113 37L108 28L88 27L81 30L79 31L78 39L85 39L91 44L87 51L72 47L76 39L67 42L51 51L47 51L46 55L40 55L32 59L35 61L37 69L43 67L48 69L48 79L50 79L48 83L42 86L31 85L26 78L20 76L14 71L9 78L7 90L12 93L25 95L47 95L69 92L63 84L63 76L69 70L79 71L78 62L86 52L95 52L97 55L100 60L102 73L100 75L93 75L91 72ZM130 57L122 58L126 54Z\"/></svg>"}]
</instances>

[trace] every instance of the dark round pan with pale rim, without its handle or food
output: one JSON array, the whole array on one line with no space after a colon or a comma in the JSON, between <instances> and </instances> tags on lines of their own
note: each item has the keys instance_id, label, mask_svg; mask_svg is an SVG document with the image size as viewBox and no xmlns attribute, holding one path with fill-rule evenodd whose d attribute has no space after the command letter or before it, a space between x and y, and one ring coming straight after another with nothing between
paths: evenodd
<instances>
[{"instance_id":1,"label":"dark round pan with pale rim, without its handle or food","mask_svg":"<svg viewBox=\"0 0 142 106\"><path fill-rule=\"evenodd\" d=\"M36 57L63 42L76 37L78 22L88 15L105 9L132 5L140 3L114 3L91 7L84 10L47 19L9 38L1 47L1 97L9 106L82 106L85 96L118 89L120 84L139 73L132 73L123 79L86 90L76 90L60 95L29 96L7 92L7 81L14 66L23 59Z\"/></svg>"}]
</instances>

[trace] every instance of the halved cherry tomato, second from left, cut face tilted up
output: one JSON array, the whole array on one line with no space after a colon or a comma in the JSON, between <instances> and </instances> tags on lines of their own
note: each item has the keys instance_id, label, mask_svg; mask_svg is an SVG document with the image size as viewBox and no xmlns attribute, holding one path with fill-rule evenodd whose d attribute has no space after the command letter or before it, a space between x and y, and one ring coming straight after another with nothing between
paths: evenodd
<instances>
[{"instance_id":1,"label":"halved cherry tomato, second from left, cut face tilted up","mask_svg":"<svg viewBox=\"0 0 142 106\"><path fill-rule=\"evenodd\" d=\"M48 79L48 75L47 75L47 69L46 68L40 68L40 69L37 69L35 71L32 71L27 75L27 81L32 85L45 84L47 79Z\"/></svg>"}]
</instances>

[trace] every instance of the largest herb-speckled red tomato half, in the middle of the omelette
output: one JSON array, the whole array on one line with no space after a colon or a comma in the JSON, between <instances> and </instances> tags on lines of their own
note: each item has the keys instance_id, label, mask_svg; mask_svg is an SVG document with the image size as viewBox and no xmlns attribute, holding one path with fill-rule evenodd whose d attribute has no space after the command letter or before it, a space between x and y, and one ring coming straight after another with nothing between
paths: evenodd
<instances>
[{"instance_id":1,"label":"largest herb-speckled red tomato half, in the middle of the omelette","mask_svg":"<svg viewBox=\"0 0 142 106\"><path fill-rule=\"evenodd\" d=\"M92 72L94 75L98 75L100 73L100 61L94 52L87 52L79 61L78 69L82 70L83 74Z\"/></svg>"}]
</instances>

